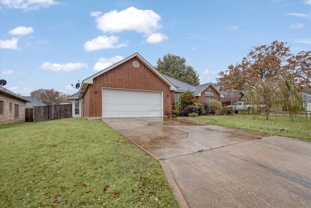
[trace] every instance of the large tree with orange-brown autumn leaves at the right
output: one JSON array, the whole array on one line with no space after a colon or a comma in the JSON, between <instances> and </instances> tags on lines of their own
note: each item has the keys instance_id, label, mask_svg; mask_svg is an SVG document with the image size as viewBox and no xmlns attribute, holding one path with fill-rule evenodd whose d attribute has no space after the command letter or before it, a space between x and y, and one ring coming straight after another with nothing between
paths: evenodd
<instances>
[{"instance_id":1,"label":"large tree with orange-brown autumn leaves at the right","mask_svg":"<svg viewBox=\"0 0 311 208\"><path fill-rule=\"evenodd\" d=\"M284 96L293 90L311 84L311 53L290 54L286 43L275 40L271 45L254 47L236 66L220 72L217 86L221 90L245 90L245 98L252 104L266 106L266 119L271 110L279 107L286 99ZM294 80L294 81L292 81ZM286 86L283 83L286 82ZM299 105L299 104L298 104Z\"/></svg>"}]
</instances>

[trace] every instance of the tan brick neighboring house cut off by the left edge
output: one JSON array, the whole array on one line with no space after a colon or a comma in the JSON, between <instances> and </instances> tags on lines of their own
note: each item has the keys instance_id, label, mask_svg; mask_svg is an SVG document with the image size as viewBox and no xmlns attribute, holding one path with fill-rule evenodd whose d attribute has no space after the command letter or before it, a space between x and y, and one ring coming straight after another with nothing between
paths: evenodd
<instances>
[{"instance_id":1,"label":"tan brick neighboring house cut off by the left edge","mask_svg":"<svg viewBox=\"0 0 311 208\"><path fill-rule=\"evenodd\" d=\"M25 122L25 107L29 100L0 87L0 124Z\"/></svg>"}]
</instances>

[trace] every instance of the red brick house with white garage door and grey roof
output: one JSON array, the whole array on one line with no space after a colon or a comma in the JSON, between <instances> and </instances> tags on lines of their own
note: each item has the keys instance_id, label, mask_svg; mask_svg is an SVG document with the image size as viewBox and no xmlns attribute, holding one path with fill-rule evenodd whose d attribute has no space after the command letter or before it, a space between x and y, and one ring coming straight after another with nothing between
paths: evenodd
<instances>
[{"instance_id":1,"label":"red brick house with white garage door and grey roof","mask_svg":"<svg viewBox=\"0 0 311 208\"><path fill-rule=\"evenodd\" d=\"M151 117L172 113L172 104L190 91L199 103L220 101L212 83L191 86L159 73L138 53L82 81L70 95L73 117Z\"/></svg>"}]
</instances>

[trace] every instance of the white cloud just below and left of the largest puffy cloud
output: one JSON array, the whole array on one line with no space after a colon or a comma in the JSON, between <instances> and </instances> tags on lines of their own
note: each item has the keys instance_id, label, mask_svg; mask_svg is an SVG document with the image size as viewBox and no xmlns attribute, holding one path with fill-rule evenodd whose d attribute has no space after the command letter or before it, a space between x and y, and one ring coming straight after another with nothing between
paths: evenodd
<instances>
[{"instance_id":1,"label":"white cloud just below and left of the largest puffy cloud","mask_svg":"<svg viewBox=\"0 0 311 208\"><path fill-rule=\"evenodd\" d=\"M119 37L117 36L99 36L92 40L86 41L84 44L84 49L86 52L95 51L99 49L108 49L108 48L121 48L127 45L127 43L119 43Z\"/></svg>"}]
</instances>

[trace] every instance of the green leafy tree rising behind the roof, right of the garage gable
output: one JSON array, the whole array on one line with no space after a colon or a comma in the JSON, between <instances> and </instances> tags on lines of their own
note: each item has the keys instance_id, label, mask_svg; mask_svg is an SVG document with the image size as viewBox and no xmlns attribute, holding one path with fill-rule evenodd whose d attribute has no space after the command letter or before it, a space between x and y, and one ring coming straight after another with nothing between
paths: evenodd
<instances>
[{"instance_id":1,"label":"green leafy tree rising behind the roof, right of the garage gable","mask_svg":"<svg viewBox=\"0 0 311 208\"><path fill-rule=\"evenodd\" d=\"M164 75L171 76L193 86L200 84L199 75L192 66L186 66L184 57L167 54L162 60L159 58L156 64L155 69Z\"/></svg>"}]
</instances>

